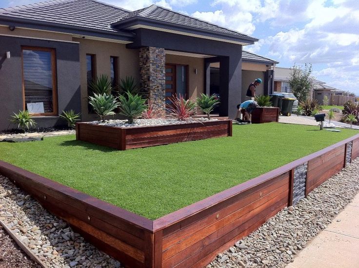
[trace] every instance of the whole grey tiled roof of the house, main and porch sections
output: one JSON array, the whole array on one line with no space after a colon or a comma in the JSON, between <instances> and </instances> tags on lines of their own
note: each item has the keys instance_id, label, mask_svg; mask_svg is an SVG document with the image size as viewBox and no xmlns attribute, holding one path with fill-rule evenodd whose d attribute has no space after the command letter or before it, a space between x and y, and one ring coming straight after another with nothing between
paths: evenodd
<instances>
[{"instance_id":1,"label":"whole grey tiled roof of the house, main and porch sections","mask_svg":"<svg viewBox=\"0 0 359 268\"><path fill-rule=\"evenodd\" d=\"M258 41L248 35L218 25L201 21L157 5L151 5L136 11L103 3L97 0L49 0L46 2L0 8L0 21L14 22L15 26L41 26L39 29L54 30L54 27L106 32L133 36L131 26L144 27L147 23L156 24L165 30L218 36L231 41ZM22 24L19 24L22 23ZM6 24L5 24L6 25ZM8 24L11 25L11 24ZM171 28L172 27L172 28Z\"/></svg>"}]
</instances>

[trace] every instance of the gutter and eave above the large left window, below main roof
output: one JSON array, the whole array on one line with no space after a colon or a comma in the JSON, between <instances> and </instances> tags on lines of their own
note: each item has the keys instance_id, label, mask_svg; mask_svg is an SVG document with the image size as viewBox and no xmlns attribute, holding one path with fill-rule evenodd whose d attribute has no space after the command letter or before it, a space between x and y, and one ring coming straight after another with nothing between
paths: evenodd
<instances>
[{"instance_id":1,"label":"gutter and eave above the large left window, below main roof","mask_svg":"<svg viewBox=\"0 0 359 268\"><path fill-rule=\"evenodd\" d=\"M37 21L23 18L16 18L10 16L0 15L0 24L13 25L15 27L23 27L37 30L46 30L53 32L88 35L101 38L116 39L122 41L133 41L134 34L123 30L117 30L117 32L111 32L100 29L93 29L88 27L81 27L76 25L66 25L62 23L48 22L48 21Z\"/></svg>"}]
</instances>

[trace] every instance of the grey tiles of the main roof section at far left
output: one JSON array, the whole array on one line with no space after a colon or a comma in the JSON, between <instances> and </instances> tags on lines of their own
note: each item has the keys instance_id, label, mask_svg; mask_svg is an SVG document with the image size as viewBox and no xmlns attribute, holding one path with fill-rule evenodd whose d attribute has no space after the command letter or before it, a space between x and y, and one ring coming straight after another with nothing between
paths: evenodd
<instances>
[{"instance_id":1,"label":"grey tiles of the main roof section at far left","mask_svg":"<svg viewBox=\"0 0 359 268\"><path fill-rule=\"evenodd\" d=\"M129 11L95 0L49 0L45 2L0 8L0 16L55 22L116 32L111 23Z\"/></svg>"}]
</instances>

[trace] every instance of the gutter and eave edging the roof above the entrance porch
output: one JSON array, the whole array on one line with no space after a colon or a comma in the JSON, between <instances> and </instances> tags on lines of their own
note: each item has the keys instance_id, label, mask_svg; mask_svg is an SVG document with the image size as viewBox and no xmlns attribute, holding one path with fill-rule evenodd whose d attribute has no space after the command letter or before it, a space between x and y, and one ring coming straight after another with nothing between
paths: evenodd
<instances>
[{"instance_id":1,"label":"gutter and eave edging the roof above the entrance porch","mask_svg":"<svg viewBox=\"0 0 359 268\"><path fill-rule=\"evenodd\" d=\"M154 20L154 19L148 19L143 18L140 16L136 16L133 18L129 18L123 21L117 21L111 24L112 28L114 29L127 29L134 27L136 25L147 25L147 26L154 26L158 28L162 28L164 30L175 30L180 31L184 33L195 33L198 35L204 35L209 37L215 37L220 39L225 39L229 41L238 41L243 42L247 44L254 44L254 42L259 41L257 38L253 37L246 37L246 36L236 36L226 33L221 33L217 31L211 31L211 30L205 30L205 29L199 29L196 27L186 26L186 25L180 25L173 22L168 21L160 21L160 20Z\"/></svg>"}]
</instances>

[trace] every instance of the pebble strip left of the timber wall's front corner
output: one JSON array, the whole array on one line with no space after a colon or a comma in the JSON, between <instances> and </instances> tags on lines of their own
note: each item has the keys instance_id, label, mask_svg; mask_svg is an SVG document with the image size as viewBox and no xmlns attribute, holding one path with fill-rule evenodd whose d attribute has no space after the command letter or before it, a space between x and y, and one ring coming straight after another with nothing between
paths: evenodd
<instances>
[{"instance_id":1,"label":"pebble strip left of the timber wall's front corner","mask_svg":"<svg viewBox=\"0 0 359 268\"><path fill-rule=\"evenodd\" d=\"M121 267L120 262L87 243L3 176L0 176L0 220L46 267Z\"/></svg>"}]
</instances>

